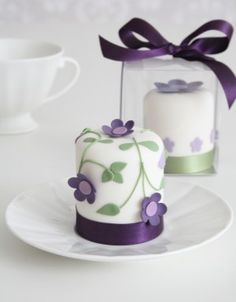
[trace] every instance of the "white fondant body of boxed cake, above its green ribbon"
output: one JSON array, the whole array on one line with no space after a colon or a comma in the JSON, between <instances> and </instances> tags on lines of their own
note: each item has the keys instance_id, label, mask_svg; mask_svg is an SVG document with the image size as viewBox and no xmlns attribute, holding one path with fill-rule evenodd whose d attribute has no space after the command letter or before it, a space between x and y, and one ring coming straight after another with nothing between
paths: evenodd
<instances>
[{"instance_id":1,"label":"white fondant body of boxed cake, above its green ribbon","mask_svg":"<svg viewBox=\"0 0 236 302\"><path fill-rule=\"evenodd\" d=\"M144 127L156 131L169 156L203 154L214 148L215 99L206 89L160 92L144 99Z\"/></svg>"}]
</instances>

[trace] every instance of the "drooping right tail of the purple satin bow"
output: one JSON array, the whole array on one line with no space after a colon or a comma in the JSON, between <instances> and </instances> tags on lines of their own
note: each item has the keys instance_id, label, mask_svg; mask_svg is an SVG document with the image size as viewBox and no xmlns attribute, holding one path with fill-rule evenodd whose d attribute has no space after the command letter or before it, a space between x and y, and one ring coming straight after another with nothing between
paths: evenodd
<instances>
[{"instance_id":1,"label":"drooping right tail of the purple satin bow","mask_svg":"<svg viewBox=\"0 0 236 302\"><path fill-rule=\"evenodd\" d=\"M224 63L216 60L201 60L216 75L224 90L229 109L232 107L236 99L236 77L232 70Z\"/></svg>"}]
</instances>

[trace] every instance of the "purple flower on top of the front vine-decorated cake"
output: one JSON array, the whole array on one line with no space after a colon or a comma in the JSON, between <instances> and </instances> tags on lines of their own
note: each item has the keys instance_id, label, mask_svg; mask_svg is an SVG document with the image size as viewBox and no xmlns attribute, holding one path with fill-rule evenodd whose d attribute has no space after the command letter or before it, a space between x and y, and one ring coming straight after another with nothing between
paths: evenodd
<instances>
[{"instance_id":1,"label":"purple flower on top of the front vine-decorated cake","mask_svg":"<svg viewBox=\"0 0 236 302\"><path fill-rule=\"evenodd\" d=\"M121 137L132 133L134 130L134 121L124 122L120 119L115 119L111 122L111 127L104 125L102 130L105 134L111 137Z\"/></svg>"}]
</instances>

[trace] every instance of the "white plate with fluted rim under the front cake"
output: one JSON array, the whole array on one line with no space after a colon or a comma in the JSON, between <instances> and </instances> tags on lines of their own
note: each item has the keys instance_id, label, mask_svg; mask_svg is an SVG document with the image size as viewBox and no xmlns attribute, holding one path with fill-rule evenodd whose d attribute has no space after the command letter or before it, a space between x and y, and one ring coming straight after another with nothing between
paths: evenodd
<instances>
[{"instance_id":1,"label":"white plate with fluted rim under the front cake","mask_svg":"<svg viewBox=\"0 0 236 302\"><path fill-rule=\"evenodd\" d=\"M131 246L97 244L75 234L75 201L66 180L17 196L7 208L6 221L17 237L36 248L92 261L143 260L189 250L216 239L232 222L227 203L199 186L167 179L165 196L164 232Z\"/></svg>"}]
</instances>

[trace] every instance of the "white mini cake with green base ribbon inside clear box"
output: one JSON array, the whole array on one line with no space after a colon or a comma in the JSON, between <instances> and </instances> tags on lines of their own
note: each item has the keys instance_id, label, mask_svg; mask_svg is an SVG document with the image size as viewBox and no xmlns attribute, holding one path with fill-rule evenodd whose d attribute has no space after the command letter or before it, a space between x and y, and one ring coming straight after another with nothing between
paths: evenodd
<instances>
[{"instance_id":1,"label":"white mini cake with green base ribbon inside clear box","mask_svg":"<svg viewBox=\"0 0 236 302\"><path fill-rule=\"evenodd\" d=\"M215 100L202 82L155 83L144 99L144 127L156 131L167 151L167 173L195 173L213 165Z\"/></svg>"}]
</instances>

